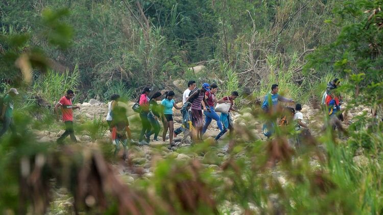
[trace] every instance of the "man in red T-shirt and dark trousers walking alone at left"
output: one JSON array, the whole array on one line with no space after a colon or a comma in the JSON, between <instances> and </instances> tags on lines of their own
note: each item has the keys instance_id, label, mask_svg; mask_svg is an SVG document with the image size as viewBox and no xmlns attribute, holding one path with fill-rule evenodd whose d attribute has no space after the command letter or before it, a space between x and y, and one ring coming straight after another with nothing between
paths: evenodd
<instances>
[{"instance_id":1,"label":"man in red T-shirt and dark trousers walking alone at left","mask_svg":"<svg viewBox=\"0 0 383 215\"><path fill-rule=\"evenodd\" d=\"M55 113L57 115L57 121L59 121L58 108L61 107L62 121L65 124L65 132L57 139L58 144L62 144L65 137L70 135L70 139L73 142L77 142L75 131L73 130L73 110L80 109L80 106L72 105L72 98L75 93L73 90L67 90L66 94L60 99L60 101L55 106Z\"/></svg>"}]
</instances>

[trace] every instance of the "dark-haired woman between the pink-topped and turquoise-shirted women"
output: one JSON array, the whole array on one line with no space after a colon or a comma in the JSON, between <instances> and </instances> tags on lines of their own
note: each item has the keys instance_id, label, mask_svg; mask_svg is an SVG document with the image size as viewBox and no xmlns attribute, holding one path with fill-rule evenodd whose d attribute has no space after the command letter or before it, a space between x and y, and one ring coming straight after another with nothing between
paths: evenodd
<instances>
[{"instance_id":1,"label":"dark-haired woman between the pink-topped and turquoise-shirted women","mask_svg":"<svg viewBox=\"0 0 383 215\"><path fill-rule=\"evenodd\" d=\"M152 125L152 130L146 134L147 138L150 138L152 134L154 134L153 141L159 141L158 133L161 130L161 126L158 120L164 122L164 115L161 109L161 106L158 105L157 101L160 101L162 94L161 92L155 92L150 98L149 101L149 113L148 120Z\"/></svg>"}]
</instances>

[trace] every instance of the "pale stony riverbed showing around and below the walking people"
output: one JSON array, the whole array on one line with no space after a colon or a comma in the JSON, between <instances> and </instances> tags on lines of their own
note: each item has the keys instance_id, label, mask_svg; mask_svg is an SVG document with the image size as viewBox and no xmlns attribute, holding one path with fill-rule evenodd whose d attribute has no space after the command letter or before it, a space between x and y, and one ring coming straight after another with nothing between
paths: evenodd
<instances>
[{"instance_id":1,"label":"pale stony riverbed showing around and below the walking people","mask_svg":"<svg viewBox=\"0 0 383 215\"><path fill-rule=\"evenodd\" d=\"M105 103L98 102L97 100L90 100L88 103L79 104L81 107L80 111L75 110L75 120L74 123L78 126L83 124L87 124L89 122L100 119L101 121L105 121L108 106ZM139 116L137 113L133 112L131 106L133 103L120 103L120 105L125 106L127 108L127 114L129 116L130 127L133 132L133 136L137 139L138 132L140 130L140 122ZM180 104L179 104L180 105ZM235 128L238 130L247 129L252 134L250 136L246 135L234 135L235 138L250 141L255 139L266 140L266 137L262 134L262 122L256 120L254 116L250 113L251 109L244 109L243 114L234 114L234 124ZM314 135L318 134L319 129L323 126L323 114L319 109L313 109L307 105L303 105L302 111L304 115L304 123L309 125L310 130ZM350 122L352 122L352 118L357 115L366 114L368 117L371 117L370 110L366 107L354 108L345 113L345 121L343 122L344 126L347 127ZM181 126L181 114L179 111L174 110L174 120L175 120L175 128ZM76 127L75 127L76 128ZM50 142L55 141L62 133L63 130L60 127L60 123L56 126L52 126L49 130L33 130L35 135L38 138L38 141L41 142ZM103 134L100 135L100 139L95 140L86 129L76 131L75 134L78 138L79 145L88 146L88 147L99 147L102 144L110 144L109 136L110 132L105 129L102 131ZM133 185L136 180L145 180L150 179L154 176L154 171L156 168L156 163L161 158L172 157L176 160L192 160L198 159L201 161L204 168L208 168L214 172L215 175L219 176L221 170L221 164L229 159L229 155L226 153L227 145L225 140L219 140L218 144L213 141L213 138L219 133L219 129L215 121L211 123L208 128L208 131L204 134L204 138L207 141L210 141L212 146L218 148L218 150L212 152L205 153L191 153L187 150L190 147L190 142L182 141L182 134L177 136L174 139L175 144L169 144L169 134L166 136L166 141L151 141L149 146L138 146L135 144L130 144L128 159L125 160L117 160L115 162L110 163L115 174L122 180L124 183ZM227 132L228 133L228 132ZM161 135L161 132L160 132ZM227 135L227 134L226 134ZM223 136L222 139L225 139ZM111 146L112 149L112 146ZM354 162L358 165L363 165L367 158L363 155L356 154L354 157ZM129 163L129 164L127 164ZM313 168L318 166L318 162L313 159L310 163ZM286 183L286 180L283 174L278 174L275 172L276 179L283 185ZM60 214L60 211L71 211L73 210L73 197L68 195L66 188L58 188L54 193L55 201L51 203L51 213L52 214ZM235 205L231 205L228 203L227 205L222 205L224 208L229 208L229 211L232 214L241 214L243 211L240 207ZM256 210L256 209L255 209ZM61 213L63 214L63 213Z\"/></svg>"}]
</instances>

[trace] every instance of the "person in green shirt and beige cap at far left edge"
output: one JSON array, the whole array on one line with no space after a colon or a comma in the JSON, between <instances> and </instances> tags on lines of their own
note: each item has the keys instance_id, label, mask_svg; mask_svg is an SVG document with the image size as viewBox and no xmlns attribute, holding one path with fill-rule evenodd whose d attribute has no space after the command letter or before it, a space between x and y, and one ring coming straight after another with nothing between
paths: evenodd
<instances>
[{"instance_id":1,"label":"person in green shirt and beige cap at far left edge","mask_svg":"<svg viewBox=\"0 0 383 215\"><path fill-rule=\"evenodd\" d=\"M0 137L2 137L10 128L13 132L13 108L16 95L18 95L16 88L9 89L2 101L0 120L3 121L3 128L0 131Z\"/></svg>"}]
</instances>

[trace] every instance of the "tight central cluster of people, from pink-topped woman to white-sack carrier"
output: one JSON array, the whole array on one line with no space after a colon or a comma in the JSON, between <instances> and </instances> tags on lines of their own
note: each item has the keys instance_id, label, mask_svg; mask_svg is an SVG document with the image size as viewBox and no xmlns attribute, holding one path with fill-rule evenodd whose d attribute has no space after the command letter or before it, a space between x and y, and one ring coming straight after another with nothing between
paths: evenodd
<instances>
[{"instance_id":1,"label":"tight central cluster of people, from pink-topped woman to white-sack carrier","mask_svg":"<svg viewBox=\"0 0 383 215\"><path fill-rule=\"evenodd\" d=\"M154 134L154 141L158 140L160 123L163 124L162 141L166 140L166 134L169 130L169 141L173 144L173 138L181 132L184 132L184 139L191 136L192 140L199 141L206 132L207 127L212 120L217 121L217 126L220 133L216 136L219 139L228 130L232 130L230 114L221 113L219 116L214 111L215 104L228 103L231 111L238 111L233 107L234 100L238 97L238 92L234 91L231 95L218 100L216 93L218 90L217 84L204 83L201 88L197 88L195 81L189 81L187 89L183 93L182 107L177 106L174 101L175 93L170 90L164 93L164 99L160 101L162 94L155 92L151 98L149 94L151 89L146 87L141 92L138 100L139 116L141 118L142 130L140 132L139 144L149 144L150 136ZM173 108L180 110L182 114L181 127L174 129ZM229 111L230 111L229 110ZM203 121L205 115L205 123Z\"/></svg>"}]
</instances>

